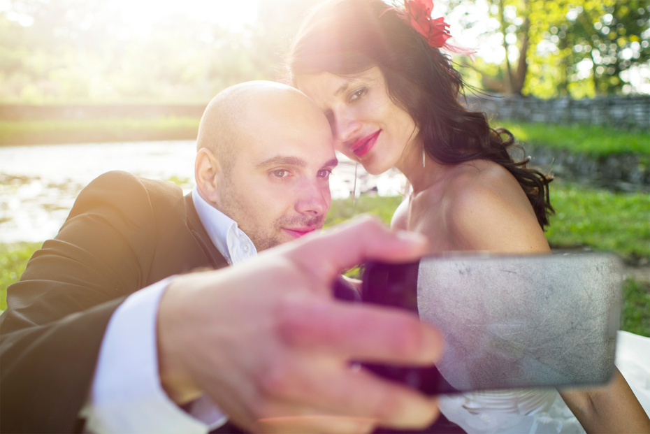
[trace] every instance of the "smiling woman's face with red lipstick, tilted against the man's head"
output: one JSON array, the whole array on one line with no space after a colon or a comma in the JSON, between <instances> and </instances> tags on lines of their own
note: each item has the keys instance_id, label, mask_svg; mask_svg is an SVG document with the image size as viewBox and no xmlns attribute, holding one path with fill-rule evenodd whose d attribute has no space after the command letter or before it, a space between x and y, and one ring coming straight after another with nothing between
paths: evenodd
<instances>
[{"instance_id":1,"label":"smiling woman's face with red lipstick, tilted against the man's head","mask_svg":"<svg viewBox=\"0 0 650 434\"><path fill-rule=\"evenodd\" d=\"M377 66L354 75L298 75L296 84L327 116L336 149L368 173L400 168L414 150L419 131L412 117L391 101Z\"/></svg>"}]
</instances>

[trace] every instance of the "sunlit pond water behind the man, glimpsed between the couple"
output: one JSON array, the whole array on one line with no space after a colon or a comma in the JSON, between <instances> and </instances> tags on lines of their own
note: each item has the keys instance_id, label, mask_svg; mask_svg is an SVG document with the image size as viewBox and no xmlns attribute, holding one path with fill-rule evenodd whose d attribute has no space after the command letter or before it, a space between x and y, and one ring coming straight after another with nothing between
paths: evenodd
<instances>
[{"instance_id":1,"label":"sunlit pond water behind the man, glimpsed between the couple","mask_svg":"<svg viewBox=\"0 0 650 434\"><path fill-rule=\"evenodd\" d=\"M56 235L79 191L97 176L120 170L194 187L196 140L0 147L0 243L42 242ZM349 197L355 166L342 154L330 178L333 198ZM357 169L357 194L400 194L404 178Z\"/></svg>"}]
</instances>

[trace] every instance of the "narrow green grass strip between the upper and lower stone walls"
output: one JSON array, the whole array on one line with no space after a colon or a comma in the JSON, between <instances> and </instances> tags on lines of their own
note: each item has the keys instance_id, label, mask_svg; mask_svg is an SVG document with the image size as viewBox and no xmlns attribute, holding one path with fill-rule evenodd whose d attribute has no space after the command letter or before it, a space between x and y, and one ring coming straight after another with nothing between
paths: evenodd
<instances>
[{"instance_id":1,"label":"narrow green grass strip between the upper and lower stone walls","mask_svg":"<svg viewBox=\"0 0 650 434\"><path fill-rule=\"evenodd\" d=\"M498 126L508 129L524 146L544 145L593 157L632 153L639 154L642 160L647 160L650 155L647 131L620 130L602 125L558 125L512 121L498 122Z\"/></svg>"}]
</instances>

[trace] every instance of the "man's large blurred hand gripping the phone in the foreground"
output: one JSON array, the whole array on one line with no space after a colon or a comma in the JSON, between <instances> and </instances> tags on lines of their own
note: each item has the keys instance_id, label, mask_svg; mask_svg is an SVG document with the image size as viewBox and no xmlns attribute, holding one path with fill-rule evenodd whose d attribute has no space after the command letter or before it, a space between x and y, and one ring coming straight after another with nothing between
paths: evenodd
<instances>
[{"instance_id":1,"label":"man's large blurred hand gripping the phone in the foreground","mask_svg":"<svg viewBox=\"0 0 650 434\"><path fill-rule=\"evenodd\" d=\"M176 278L159 309L164 388L177 403L207 393L248 431L428 426L438 415L433 398L351 361L431 364L442 353L440 334L409 312L331 295L344 268L425 251L424 238L366 218L241 266Z\"/></svg>"}]
</instances>

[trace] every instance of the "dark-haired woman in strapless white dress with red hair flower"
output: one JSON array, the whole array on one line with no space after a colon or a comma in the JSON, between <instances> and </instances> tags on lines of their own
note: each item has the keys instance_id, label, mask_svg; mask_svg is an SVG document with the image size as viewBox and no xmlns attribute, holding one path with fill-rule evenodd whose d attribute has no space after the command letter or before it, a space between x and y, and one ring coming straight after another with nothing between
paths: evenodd
<instances>
[{"instance_id":1,"label":"dark-haired woman in strapless white dress with red hair flower","mask_svg":"<svg viewBox=\"0 0 650 434\"><path fill-rule=\"evenodd\" d=\"M405 8L381 0L327 1L305 19L289 59L291 80L326 113L338 150L380 174L398 168L411 191L391 225L424 233L431 253L549 252L550 178L514 161L512 134L490 128L458 97L461 75L441 49L447 24L431 0ZM625 379L561 391L587 431L650 430ZM449 396L441 410L466 431L568 431L575 424L554 390ZM558 408L566 415L554 414ZM571 424L571 419L574 424Z\"/></svg>"}]
</instances>

